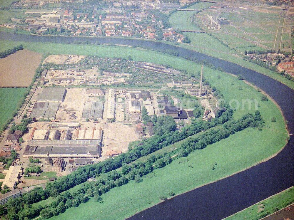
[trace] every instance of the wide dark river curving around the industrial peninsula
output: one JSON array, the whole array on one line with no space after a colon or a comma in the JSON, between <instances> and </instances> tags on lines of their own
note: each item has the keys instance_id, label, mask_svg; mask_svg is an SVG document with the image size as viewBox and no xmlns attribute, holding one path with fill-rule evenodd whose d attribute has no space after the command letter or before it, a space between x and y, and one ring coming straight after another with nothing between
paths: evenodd
<instances>
[{"instance_id":1,"label":"wide dark river curving around the industrial peninsula","mask_svg":"<svg viewBox=\"0 0 294 220\"><path fill-rule=\"evenodd\" d=\"M30 36L0 32L0 40L73 43L90 41L91 43L114 43L146 47L156 50L171 49L179 56L195 57L207 60L228 73L242 74L245 80L264 90L280 106L288 121L290 134L294 133L294 91L286 85L253 70L237 64L207 56L202 53L165 43L125 38L88 38L88 37L49 37ZM129 220L218 220L257 203L273 194L294 185L294 139L275 157L250 169L227 177L220 181L194 189L173 199L146 209Z\"/></svg>"}]
</instances>

